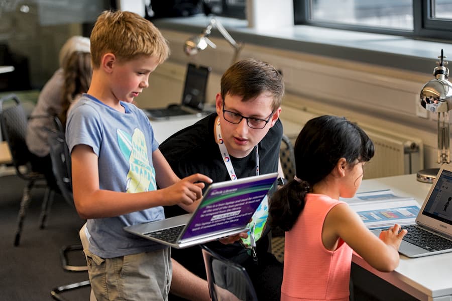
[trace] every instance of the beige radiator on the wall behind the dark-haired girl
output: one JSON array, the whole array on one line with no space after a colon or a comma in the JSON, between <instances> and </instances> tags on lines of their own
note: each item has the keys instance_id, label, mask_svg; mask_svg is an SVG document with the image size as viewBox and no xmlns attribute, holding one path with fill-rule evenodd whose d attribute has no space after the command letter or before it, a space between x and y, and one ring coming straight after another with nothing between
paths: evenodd
<instances>
[{"instance_id":1,"label":"beige radiator on the wall behind the dark-haired girl","mask_svg":"<svg viewBox=\"0 0 452 301\"><path fill-rule=\"evenodd\" d=\"M311 118L323 114L292 108L285 108L283 112L290 112L282 116L281 121L284 133L294 144L304 124ZM385 129L361 122L357 122L357 124L375 145L375 155L364 168L365 179L409 174L424 168L424 147L419 138L390 133Z\"/></svg>"}]
</instances>

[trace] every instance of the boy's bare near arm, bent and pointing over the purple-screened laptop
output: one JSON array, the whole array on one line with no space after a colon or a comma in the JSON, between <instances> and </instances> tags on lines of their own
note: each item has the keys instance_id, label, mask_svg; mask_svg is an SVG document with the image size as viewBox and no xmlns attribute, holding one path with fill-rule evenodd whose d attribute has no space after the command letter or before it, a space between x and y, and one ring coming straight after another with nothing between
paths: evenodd
<instances>
[{"instance_id":1,"label":"boy's bare near arm, bent and pointing over the purple-screened laptop","mask_svg":"<svg viewBox=\"0 0 452 301\"><path fill-rule=\"evenodd\" d=\"M205 175L194 174L164 189L139 193L110 191L99 188L97 155L91 147L75 146L71 159L74 203L82 219L114 217L164 205L189 206L202 195L204 183L195 182L211 181ZM156 173L158 178L157 169Z\"/></svg>"}]
</instances>

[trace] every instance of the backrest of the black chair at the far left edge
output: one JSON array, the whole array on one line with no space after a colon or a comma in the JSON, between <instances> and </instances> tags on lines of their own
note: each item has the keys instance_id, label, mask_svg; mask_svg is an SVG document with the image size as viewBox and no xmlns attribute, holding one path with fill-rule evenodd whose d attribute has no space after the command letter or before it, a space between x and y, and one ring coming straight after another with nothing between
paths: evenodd
<instances>
[{"instance_id":1,"label":"backrest of the black chair at the far left edge","mask_svg":"<svg viewBox=\"0 0 452 301\"><path fill-rule=\"evenodd\" d=\"M6 109L3 109L4 107ZM0 98L0 122L3 134L10 147L13 164L18 175L23 176L24 174L19 167L29 163L31 153L25 142L27 115L15 94Z\"/></svg>"}]
</instances>

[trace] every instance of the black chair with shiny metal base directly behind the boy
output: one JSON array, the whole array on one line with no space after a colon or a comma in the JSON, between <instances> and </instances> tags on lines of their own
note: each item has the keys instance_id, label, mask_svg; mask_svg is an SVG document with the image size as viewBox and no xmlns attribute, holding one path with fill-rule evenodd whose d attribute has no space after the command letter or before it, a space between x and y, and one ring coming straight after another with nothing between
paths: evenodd
<instances>
[{"instance_id":1,"label":"black chair with shiny metal base directly behind the boy","mask_svg":"<svg viewBox=\"0 0 452 301\"><path fill-rule=\"evenodd\" d=\"M49 130L48 135L50 157L52 159L52 170L55 175L57 185L60 188L61 194L63 195L64 199L71 206L74 206L72 182L70 177L71 160L69 149L66 145L64 128L58 117L54 117L54 122L56 129ZM83 247L82 245L69 245L61 249L61 263L63 269L71 272L87 271L88 267L86 265L74 266L68 264L68 253L71 251L80 251L81 253L81 251L83 251ZM52 289L50 294L56 300L66 301L66 299L61 295L62 292L88 285L90 285L89 280L61 285Z\"/></svg>"}]
</instances>

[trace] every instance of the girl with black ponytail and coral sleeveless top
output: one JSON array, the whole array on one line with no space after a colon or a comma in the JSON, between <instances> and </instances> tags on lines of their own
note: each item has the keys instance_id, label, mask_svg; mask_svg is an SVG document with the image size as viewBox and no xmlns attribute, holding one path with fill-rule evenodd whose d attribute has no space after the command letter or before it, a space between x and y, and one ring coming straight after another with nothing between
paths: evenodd
<instances>
[{"instance_id":1,"label":"girl with black ponytail and coral sleeveless top","mask_svg":"<svg viewBox=\"0 0 452 301\"><path fill-rule=\"evenodd\" d=\"M406 230L394 225L380 238L339 197L353 197L374 144L345 118L320 116L295 142L296 176L276 191L269 221L285 234L281 300L349 300L352 251L390 272Z\"/></svg>"}]
</instances>

